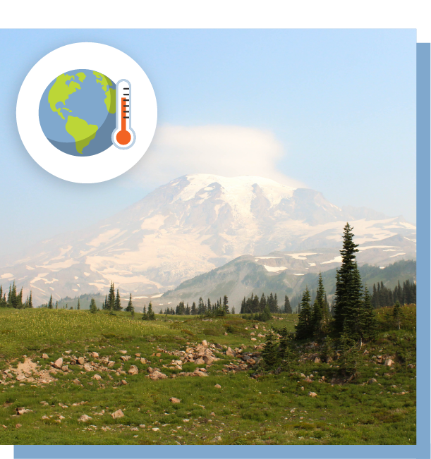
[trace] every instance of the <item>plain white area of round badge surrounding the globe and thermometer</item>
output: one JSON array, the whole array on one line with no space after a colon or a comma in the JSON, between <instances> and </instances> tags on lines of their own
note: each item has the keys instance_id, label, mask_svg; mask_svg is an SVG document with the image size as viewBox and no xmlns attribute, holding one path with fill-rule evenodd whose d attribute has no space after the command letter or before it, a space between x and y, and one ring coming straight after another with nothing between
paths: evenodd
<instances>
[{"instance_id":1,"label":"plain white area of round badge surrounding the globe and thermometer","mask_svg":"<svg viewBox=\"0 0 431 459\"><path fill-rule=\"evenodd\" d=\"M42 94L52 80L74 68L103 73L115 83L124 78L130 81L133 147L124 150L111 145L99 154L76 157L56 149L45 137L39 121ZM156 130L157 102L147 75L127 54L106 44L74 43L51 51L30 70L18 94L16 121L25 148L43 169L70 182L99 183L121 176L145 154Z\"/></svg>"}]
</instances>

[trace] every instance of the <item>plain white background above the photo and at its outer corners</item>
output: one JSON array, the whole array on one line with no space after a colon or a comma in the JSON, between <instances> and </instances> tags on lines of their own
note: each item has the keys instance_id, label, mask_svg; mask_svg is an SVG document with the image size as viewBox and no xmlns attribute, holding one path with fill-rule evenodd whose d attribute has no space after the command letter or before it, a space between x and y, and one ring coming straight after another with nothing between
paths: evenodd
<instances>
[{"instance_id":1,"label":"plain white background above the photo and at its outer corners","mask_svg":"<svg viewBox=\"0 0 431 459\"><path fill-rule=\"evenodd\" d=\"M119 6L121 15L128 8L123 18ZM418 42L431 42L429 0L74 0L63 7L58 0L8 1L1 5L0 27L416 28ZM12 459L13 447L0 446L0 457Z\"/></svg>"}]
</instances>

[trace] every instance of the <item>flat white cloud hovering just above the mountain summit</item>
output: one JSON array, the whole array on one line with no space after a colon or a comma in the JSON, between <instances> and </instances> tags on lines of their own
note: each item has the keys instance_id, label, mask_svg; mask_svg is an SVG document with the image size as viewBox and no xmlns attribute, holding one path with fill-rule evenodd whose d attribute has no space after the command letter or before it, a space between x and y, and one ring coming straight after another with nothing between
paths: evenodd
<instances>
[{"instance_id":1,"label":"flat white cloud hovering just above the mountain summit","mask_svg":"<svg viewBox=\"0 0 431 459\"><path fill-rule=\"evenodd\" d=\"M277 169L284 156L269 130L241 126L171 126L157 128L152 145L124 174L133 185L162 185L189 173L219 176L262 176L293 187L305 187Z\"/></svg>"}]
</instances>

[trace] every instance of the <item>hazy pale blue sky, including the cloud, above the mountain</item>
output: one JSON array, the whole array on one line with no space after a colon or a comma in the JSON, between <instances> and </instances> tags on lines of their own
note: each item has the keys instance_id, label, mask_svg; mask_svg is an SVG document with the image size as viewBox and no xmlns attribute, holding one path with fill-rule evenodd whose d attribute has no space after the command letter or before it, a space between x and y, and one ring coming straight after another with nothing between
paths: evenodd
<instances>
[{"instance_id":1,"label":"hazy pale blue sky, including the cloud, above the mountain","mask_svg":"<svg viewBox=\"0 0 431 459\"><path fill-rule=\"evenodd\" d=\"M126 52L157 97L152 147L105 183L51 176L16 127L25 75L74 42ZM415 222L415 30L0 30L0 45L0 256L186 173L266 176Z\"/></svg>"}]
</instances>

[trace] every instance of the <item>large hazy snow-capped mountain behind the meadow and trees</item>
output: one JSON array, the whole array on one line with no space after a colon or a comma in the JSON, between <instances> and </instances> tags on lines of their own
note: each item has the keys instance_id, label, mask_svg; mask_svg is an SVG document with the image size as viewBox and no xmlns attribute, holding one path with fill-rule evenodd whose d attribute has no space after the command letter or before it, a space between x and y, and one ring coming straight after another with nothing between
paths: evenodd
<instances>
[{"instance_id":1,"label":"large hazy snow-capped mountain behind the meadow and trees","mask_svg":"<svg viewBox=\"0 0 431 459\"><path fill-rule=\"evenodd\" d=\"M39 301L104 292L111 281L121 292L158 298L241 255L339 247L346 221L357 243L399 236L415 244L415 226L401 216L340 209L320 192L267 178L193 174L99 224L43 241L1 268L0 282L14 279ZM379 259L382 266L407 257L394 250Z\"/></svg>"}]
</instances>

